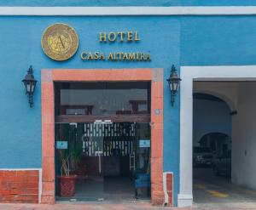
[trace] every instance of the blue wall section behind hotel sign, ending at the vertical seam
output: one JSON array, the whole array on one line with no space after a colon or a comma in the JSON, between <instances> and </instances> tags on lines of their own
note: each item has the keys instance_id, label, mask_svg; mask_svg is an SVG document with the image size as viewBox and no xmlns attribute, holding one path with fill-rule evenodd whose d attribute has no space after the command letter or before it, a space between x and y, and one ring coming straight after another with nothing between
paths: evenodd
<instances>
[{"instance_id":1,"label":"blue wall section behind hotel sign, ending at the vertical seam","mask_svg":"<svg viewBox=\"0 0 256 210\"><path fill-rule=\"evenodd\" d=\"M46 57L40 40L45 28L55 22L73 26L79 34L79 50L71 59L56 62ZM170 28L172 25L172 29ZM171 17L2 17L0 18L0 39L4 40L0 50L0 168L41 167L41 107L40 82L35 93L34 107L29 108L22 78L26 69L33 65L35 77L40 81L40 70L45 68L164 68L165 78L170 66L179 65L180 23ZM137 30L139 43L99 43L99 31ZM166 32L163 32L166 31ZM80 60L83 50L143 51L152 54L151 62L111 62ZM171 109L170 92L165 82L165 170L175 173L175 193L178 190L179 137L176 127L179 123L178 101ZM172 123L169 123L171 120ZM177 148L172 152L173 148ZM168 158L167 158L168 157Z\"/></svg>"}]
</instances>

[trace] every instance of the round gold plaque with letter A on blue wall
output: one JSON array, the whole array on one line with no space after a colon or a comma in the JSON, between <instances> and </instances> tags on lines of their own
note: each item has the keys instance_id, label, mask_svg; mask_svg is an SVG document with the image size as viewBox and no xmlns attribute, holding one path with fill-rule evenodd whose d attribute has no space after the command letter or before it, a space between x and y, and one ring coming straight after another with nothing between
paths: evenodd
<instances>
[{"instance_id":1,"label":"round gold plaque with letter A on blue wall","mask_svg":"<svg viewBox=\"0 0 256 210\"><path fill-rule=\"evenodd\" d=\"M41 45L49 58L68 60L79 48L79 37L73 27L56 23L44 31Z\"/></svg>"}]
</instances>

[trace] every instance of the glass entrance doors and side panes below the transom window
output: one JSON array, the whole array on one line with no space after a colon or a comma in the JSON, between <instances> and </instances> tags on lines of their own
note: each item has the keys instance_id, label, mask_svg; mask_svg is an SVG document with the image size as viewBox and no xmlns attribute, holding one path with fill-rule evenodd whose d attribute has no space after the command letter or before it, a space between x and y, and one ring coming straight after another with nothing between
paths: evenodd
<instances>
[{"instance_id":1,"label":"glass entrance doors and side panes below the transom window","mask_svg":"<svg viewBox=\"0 0 256 210\"><path fill-rule=\"evenodd\" d=\"M76 176L73 196L61 196L61 156ZM57 199L134 200L150 196L150 126L134 122L55 124ZM135 193L135 194L134 194Z\"/></svg>"}]
</instances>

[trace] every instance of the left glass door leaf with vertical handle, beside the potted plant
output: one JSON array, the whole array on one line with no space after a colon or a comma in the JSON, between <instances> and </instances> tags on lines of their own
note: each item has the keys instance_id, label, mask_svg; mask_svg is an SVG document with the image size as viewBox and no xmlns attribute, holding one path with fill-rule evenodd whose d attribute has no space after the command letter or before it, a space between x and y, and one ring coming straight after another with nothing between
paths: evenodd
<instances>
[{"instance_id":1,"label":"left glass door leaf with vertical handle, beside the potted plant","mask_svg":"<svg viewBox=\"0 0 256 210\"><path fill-rule=\"evenodd\" d=\"M78 180L77 199L79 201L103 201L103 136L94 123L78 123L78 139L82 155L79 158L77 174L86 179Z\"/></svg>"}]
</instances>

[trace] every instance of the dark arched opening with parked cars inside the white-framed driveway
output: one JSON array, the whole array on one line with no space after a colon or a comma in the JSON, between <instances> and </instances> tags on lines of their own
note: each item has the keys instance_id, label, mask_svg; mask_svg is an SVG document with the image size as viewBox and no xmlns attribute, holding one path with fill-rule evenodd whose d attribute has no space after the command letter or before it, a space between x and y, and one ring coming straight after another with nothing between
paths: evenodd
<instances>
[{"instance_id":1,"label":"dark arched opening with parked cars inside the white-framed driveway","mask_svg":"<svg viewBox=\"0 0 256 210\"><path fill-rule=\"evenodd\" d=\"M204 88L204 86L202 86ZM204 192L231 176L232 116L234 104L225 95L203 91L193 94L193 189L195 203L201 203ZM221 95L218 98L217 95ZM224 100L230 103L226 103ZM223 177L224 176L224 177ZM217 190L218 191L218 190ZM207 198L208 199L208 198Z\"/></svg>"}]
</instances>

